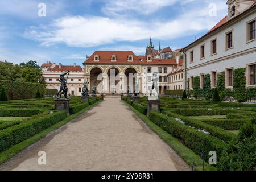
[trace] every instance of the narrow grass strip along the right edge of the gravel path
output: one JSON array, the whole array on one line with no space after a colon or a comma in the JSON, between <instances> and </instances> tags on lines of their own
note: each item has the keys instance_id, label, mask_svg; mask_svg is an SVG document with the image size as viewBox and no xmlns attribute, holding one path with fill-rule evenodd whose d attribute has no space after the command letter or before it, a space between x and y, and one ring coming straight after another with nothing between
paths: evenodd
<instances>
[{"instance_id":1,"label":"narrow grass strip along the right edge of the gravel path","mask_svg":"<svg viewBox=\"0 0 256 182\"><path fill-rule=\"evenodd\" d=\"M136 109L134 109L132 106L127 104L125 101L123 101L131 110L134 111L135 114L138 115L139 118L142 119L150 128L153 130L156 134L159 135L159 137L166 142L171 148L175 150L175 152L189 165L192 166L193 163L196 164L195 170L196 171L202 171L203 170L203 159L200 158L199 155L196 155L195 152L193 152L188 147L184 146L179 140L172 137L171 134L167 133L163 129L161 129L158 125L156 125L154 122L152 122L148 117L144 114L139 113ZM207 162L205 162L205 170L206 171L215 171L217 168L211 166Z\"/></svg>"}]
</instances>

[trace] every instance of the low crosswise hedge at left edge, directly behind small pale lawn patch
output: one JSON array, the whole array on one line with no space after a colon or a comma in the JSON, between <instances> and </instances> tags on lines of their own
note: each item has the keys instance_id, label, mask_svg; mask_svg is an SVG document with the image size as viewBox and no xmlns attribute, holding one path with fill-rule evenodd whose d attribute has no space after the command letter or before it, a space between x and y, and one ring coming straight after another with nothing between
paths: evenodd
<instances>
[{"instance_id":1,"label":"low crosswise hedge at left edge, directly behind small pale lawn patch","mask_svg":"<svg viewBox=\"0 0 256 182\"><path fill-rule=\"evenodd\" d=\"M43 111L39 109L0 109L0 117L31 117Z\"/></svg>"}]
</instances>

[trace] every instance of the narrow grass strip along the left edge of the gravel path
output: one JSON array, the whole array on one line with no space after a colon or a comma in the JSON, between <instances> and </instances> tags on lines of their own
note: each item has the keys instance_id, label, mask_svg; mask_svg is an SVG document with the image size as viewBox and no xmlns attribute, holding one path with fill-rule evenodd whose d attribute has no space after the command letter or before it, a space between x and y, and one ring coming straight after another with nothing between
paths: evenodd
<instances>
[{"instance_id":1,"label":"narrow grass strip along the left edge of the gravel path","mask_svg":"<svg viewBox=\"0 0 256 182\"><path fill-rule=\"evenodd\" d=\"M58 129L59 127L65 125L66 123L71 121L72 119L75 119L80 114L84 113L86 110L90 109L91 107L97 105L101 101L102 100L97 101L96 103L94 103L92 105L89 105L88 107L85 107L81 111L79 111L79 112L77 112L75 114L69 115L69 117L65 118L63 121L60 121L60 122L56 123L55 125L52 125L52 126L48 127L48 129L43 130L40 133L34 135L33 137L30 137L30 138L20 142L19 144L16 144L15 146L9 148L9 150L6 150L6 151L0 153L0 164L6 162L6 160L10 159L14 155L16 155L19 152L23 151L25 148L27 148L31 144L34 144L35 142L38 142L40 139L46 137L46 135L48 133L50 133L51 131L54 131L54 130Z\"/></svg>"}]
</instances>

